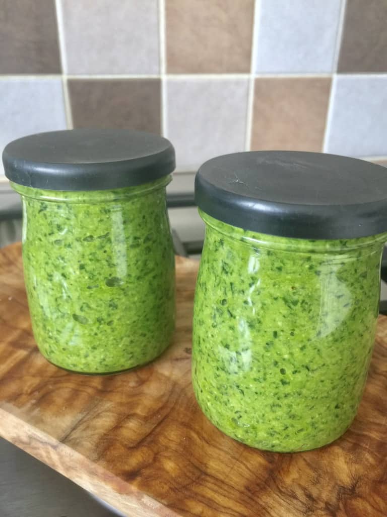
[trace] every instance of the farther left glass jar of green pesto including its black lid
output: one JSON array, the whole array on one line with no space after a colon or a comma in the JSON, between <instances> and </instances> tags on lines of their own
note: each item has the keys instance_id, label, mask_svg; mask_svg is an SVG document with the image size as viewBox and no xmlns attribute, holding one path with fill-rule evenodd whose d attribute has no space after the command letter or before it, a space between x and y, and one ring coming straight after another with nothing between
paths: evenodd
<instances>
[{"instance_id":1,"label":"farther left glass jar of green pesto including its black lid","mask_svg":"<svg viewBox=\"0 0 387 517\"><path fill-rule=\"evenodd\" d=\"M175 312L171 143L135 131L55 131L11 142L3 162L22 196L25 284L43 356L108 374L160 355Z\"/></svg>"}]
</instances>

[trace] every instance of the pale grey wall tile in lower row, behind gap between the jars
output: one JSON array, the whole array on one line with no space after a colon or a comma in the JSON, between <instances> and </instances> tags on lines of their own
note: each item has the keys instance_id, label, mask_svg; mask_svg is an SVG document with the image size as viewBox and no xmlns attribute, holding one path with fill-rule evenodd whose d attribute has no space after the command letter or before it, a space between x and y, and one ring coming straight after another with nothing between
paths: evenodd
<instances>
[{"instance_id":1,"label":"pale grey wall tile in lower row, behind gap between the jars","mask_svg":"<svg viewBox=\"0 0 387 517\"><path fill-rule=\"evenodd\" d=\"M169 78L167 138L178 171L197 171L214 156L245 147L248 79Z\"/></svg>"}]
</instances>

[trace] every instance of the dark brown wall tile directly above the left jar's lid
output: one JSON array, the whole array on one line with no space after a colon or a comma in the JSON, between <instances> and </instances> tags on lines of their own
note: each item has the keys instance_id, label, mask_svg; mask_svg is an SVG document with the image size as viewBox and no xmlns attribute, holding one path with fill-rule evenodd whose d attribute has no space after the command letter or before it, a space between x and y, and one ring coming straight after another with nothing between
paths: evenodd
<instances>
[{"instance_id":1,"label":"dark brown wall tile directly above the left jar's lid","mask_svg":"<svg viewBox=\"0 0 387 517\"><path fill-rule=\"evenodd\" d=\"M72 79L74 128L115 127L160 133L158 79Z\"/></svg>"}]
</instances>

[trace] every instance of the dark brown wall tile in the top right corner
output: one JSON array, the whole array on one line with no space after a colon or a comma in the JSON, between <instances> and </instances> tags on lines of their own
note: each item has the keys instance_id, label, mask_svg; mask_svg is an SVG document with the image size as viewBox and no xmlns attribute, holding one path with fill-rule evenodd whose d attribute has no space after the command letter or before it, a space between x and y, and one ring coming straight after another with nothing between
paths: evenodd
<instances>
[{"instance_id":1,"label":"dark brown wall tile in the top right corner","mask_svg":"<svg viewBox=\"0 0 387 517\"><path fill-rule=\"evenodd\" d=\"M339 72L387 72L386 0L347 0Z\"/></svg>"}]
</instances>

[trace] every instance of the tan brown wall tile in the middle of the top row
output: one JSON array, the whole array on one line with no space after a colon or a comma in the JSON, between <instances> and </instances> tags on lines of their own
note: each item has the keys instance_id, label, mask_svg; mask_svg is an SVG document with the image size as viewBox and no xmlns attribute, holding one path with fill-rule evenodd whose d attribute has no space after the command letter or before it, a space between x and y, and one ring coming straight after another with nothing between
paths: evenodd
<instances>
[{"instance_id":1,"label":"tan brown wall tile in the middle of the top row","mask_svg":"<svg viewBox=\"0 0 387 517\"><path fill-rule=\"evenodd\" d=\"M166 0L169 73L249 72L254 0Z\"/></svg>"}]
</instances>

